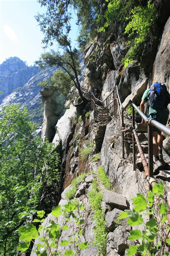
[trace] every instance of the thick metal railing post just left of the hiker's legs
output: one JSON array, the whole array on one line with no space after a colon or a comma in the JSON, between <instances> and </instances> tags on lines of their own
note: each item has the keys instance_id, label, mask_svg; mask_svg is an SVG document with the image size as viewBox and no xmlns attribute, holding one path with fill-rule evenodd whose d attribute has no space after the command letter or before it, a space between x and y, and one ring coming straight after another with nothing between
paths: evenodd
<instances>
[{"instance_id":1,"label":"thick metal railing post just left of the hiker's legs","mask_svg":"<svg viewBox=\"0 0 170 256\"><path fill-rule=\"evenodd\" d=\"M153 127L148 124L148 169L149 177L153 177ZM149 190L151 190L151 185L149 185Z\"/></svg>"}]
</instances>

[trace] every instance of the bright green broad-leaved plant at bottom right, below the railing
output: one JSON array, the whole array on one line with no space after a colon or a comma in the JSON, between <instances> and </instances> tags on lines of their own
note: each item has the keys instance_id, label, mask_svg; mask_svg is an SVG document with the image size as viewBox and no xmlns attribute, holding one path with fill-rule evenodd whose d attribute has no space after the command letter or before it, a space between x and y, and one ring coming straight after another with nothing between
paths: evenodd
<instances>
[{"instance_id":1,"label":"bright green broad-leaved plant at bottom right, below the railing","mask_svg":"<svg viewBox=\"0 0 170 256\"><path fill-rule=\"evenodd\" d=\"M168 255L166 243L169 243L169 238L166 236L166 239L159 235L159 232L162 229L165 229L164 223L167 220L167 205L162 203L160 200L164 197L164 185L162 183L155 184L152 191L148 192L148 198L145 199L145 196L142 194L137 194L137 197L132 198L134 208L133 210L125 210L125 212L121 212L118 219L127 219L127 223L129 225L136 226L142 225L144 226L143 231L138 229L134 229L130 231L131 236L128 237L128 240L136 240L142 239L141 244L130 246L127 250L127 255ZM154 212L154 207L158 207L158 212ZM148 212L150 209L150 212ZM141 212L147 213L144 214L152 214L152 218L144 223L142 219ZM157 223L157 218L159 216L159 224ZM163 228L164 227L164 228ZM167 227L167 231L169 227ZM168 234L167 234L168 235ZM158 237L160 241L158 241ZM170 246L169 246L170 250Z\"/></svg>"}]
</instances>

